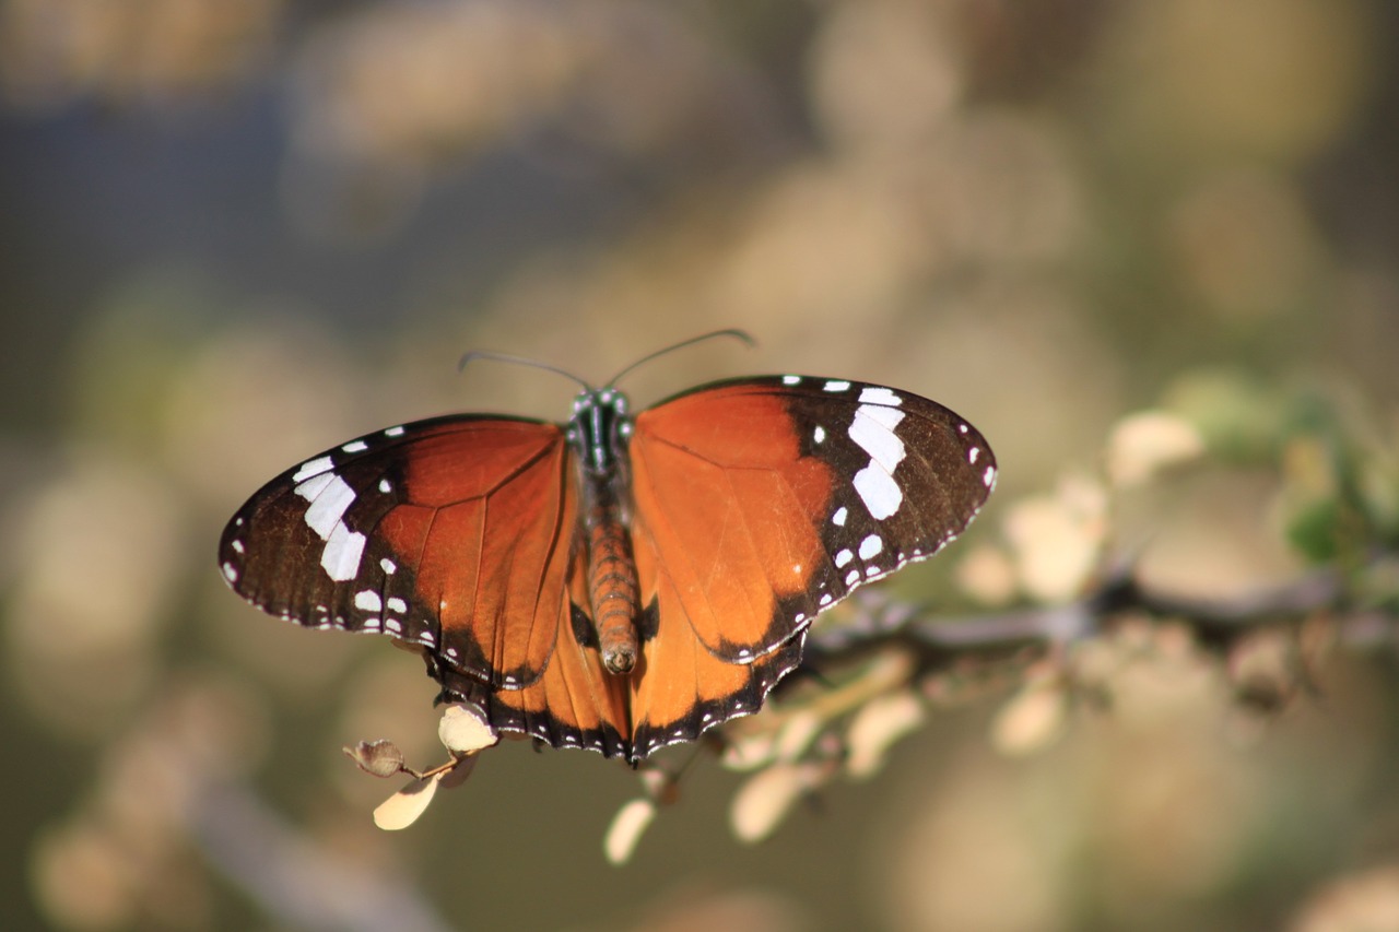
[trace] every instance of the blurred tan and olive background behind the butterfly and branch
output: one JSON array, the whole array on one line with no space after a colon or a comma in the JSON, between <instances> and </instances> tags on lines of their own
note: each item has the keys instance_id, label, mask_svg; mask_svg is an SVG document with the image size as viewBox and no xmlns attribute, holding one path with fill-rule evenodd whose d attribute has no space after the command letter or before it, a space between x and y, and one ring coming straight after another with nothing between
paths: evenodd
<instances>
[{"instance_id":1,"label":"blurred tan and olive background behind the butterfly and branch","mask_svg":"<svg viewBox=\"0 0 1399 932\"><path fill-rule=\"evenodd\" d=\"M1219 599L1344 560L1384 542L1295 519L1335 518L1308 451L1399 500L1396 63L1382 0L0 0L6 928L1399 929L1384 631L1241 718L1149 627L1035 753L995 740L1013 683L939 707L760 844L701 757L618 868L634 775L526 743L375 828L395 786L340 747L442 757L421 663L214 565L319 449L568 411L464 350L600 382L726 326L758 347L632 400L839 375L993 444L978 526L898 598L1052 605L1123 549ZM1104 486L1142 409L1207 453Z\"/></svg>"}]
</instances>

